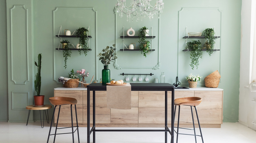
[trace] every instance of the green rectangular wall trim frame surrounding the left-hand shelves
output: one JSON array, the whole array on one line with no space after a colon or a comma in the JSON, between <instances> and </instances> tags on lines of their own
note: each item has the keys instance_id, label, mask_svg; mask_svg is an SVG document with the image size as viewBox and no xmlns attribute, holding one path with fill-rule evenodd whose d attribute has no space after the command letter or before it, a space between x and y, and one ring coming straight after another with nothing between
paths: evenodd
<instances>
[{"instance_id":1,"label":"green rectangular wall trim frame surrounding the left-hand shelves","mask_svg":"<svg viewBox=\"0 0 256 143\"><path fill-rule=\"evenodd\" d=\"M55 65L55 48L54 48L54 43L55 43L55 35L56 33L54 33L55 31L55 12L58 9L91 9L93 12L95 12L95 71L97 71L97 11L93 8L93 7L56 7L55 10L53 10L53 81L55 81L57 84L59 83L56 80L56 65ZM97 72L95 75L95 79L97 78ZM61 84L61 83L60 83Z\"/></svg>"}]
</instances>

